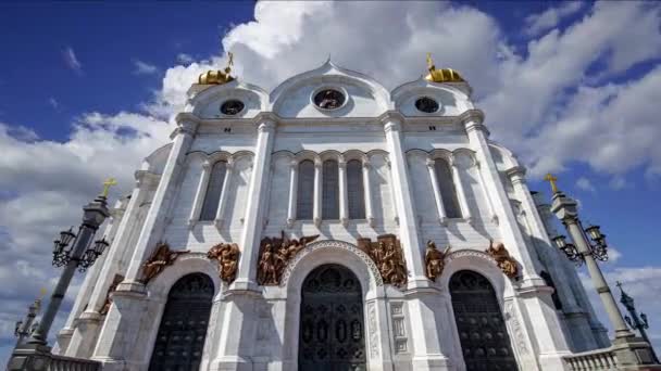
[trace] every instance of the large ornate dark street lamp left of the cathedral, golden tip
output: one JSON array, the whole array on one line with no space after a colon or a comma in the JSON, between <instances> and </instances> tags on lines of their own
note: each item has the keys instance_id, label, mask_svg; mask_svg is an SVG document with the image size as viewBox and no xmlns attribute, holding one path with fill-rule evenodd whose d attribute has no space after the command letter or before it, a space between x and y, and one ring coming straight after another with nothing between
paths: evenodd
<instances>
[{"instance_id":1,"label":"large ornate dark street lamp left of the cathedral, golden tip","mask_svg":"<svg viewBox=\"0 0 661 371\"><path fill-rule=\"evenodd\" d=\"M107 203L108 191L111 186L115 184L114 179L108 179L103 183L103 192L83 207L83 222L78 227L78 233L74 234L73 228L70 228L60 232L60 239L54 241L53 266L64 267L64 269L40 323L32 331L27 343L16 346L8 370L43 369L43 359L48 359L50 356L50 347L47 346L48 333L76 269L85 271L95 264L108 247L105 239L98 240L95 243L91 243L91 241L99 226L110 216Z\"/></svg>"}]
</instances>

